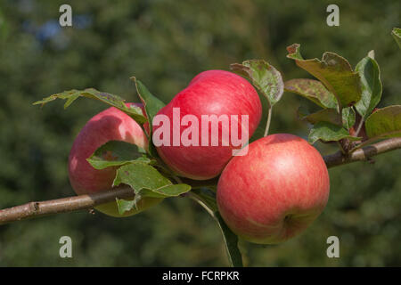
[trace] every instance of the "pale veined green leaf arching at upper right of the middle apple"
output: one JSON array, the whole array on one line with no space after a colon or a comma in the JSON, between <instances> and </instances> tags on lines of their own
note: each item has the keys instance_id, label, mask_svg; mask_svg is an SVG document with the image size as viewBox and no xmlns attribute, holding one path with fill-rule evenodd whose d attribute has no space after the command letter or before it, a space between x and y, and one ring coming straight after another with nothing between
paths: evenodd
<instances>
[{"instance_id":1,"label":"pale veined green leaf arching at upper right of the middle apple","mask_svg":"<svg viewBox=\"0 0 401 285\"><path fill-rule=\"evenodd\" d=\"M267 98L270 106L282 98L284 92L282 75L266 61L243 61L242 64L231 64L230 68L245 77L249 77L252 84Z\"/></svg>"}]
</instances>

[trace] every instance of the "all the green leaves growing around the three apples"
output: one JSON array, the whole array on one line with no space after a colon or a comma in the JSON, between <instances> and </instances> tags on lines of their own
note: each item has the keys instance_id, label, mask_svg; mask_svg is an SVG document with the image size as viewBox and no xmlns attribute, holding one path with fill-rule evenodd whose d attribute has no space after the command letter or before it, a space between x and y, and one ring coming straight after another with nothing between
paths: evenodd
<instances>
[{"instance_id":1,"label":"all the green leaves growing around the three apples","mask_svg":"<svg viewBox=\"0 0 401 285\"><path fill-rule=\"evenodd\" d=\"M400 28L394 28L392 36L401 48ZM281 73L264 60L243 61L233 63L233 71L247 77L266 98L268 112L266 128L270 124L274 104L280 101L283 91L300 96L314 102L321 110L310 113L299 108L299 119L310 124L308 141L337 142L340 151L348 155L358 148L378 140L401 137L401 105L393 105L377 109L381 101L382 84L379 64L374 59L374 52L368 53L352 68L350 63L339 54L323 53L322 60L317 58L305 60L300 53L300 45L287 47L287 58L306 70L315 79L293 78L283 81ZM152 118L165 105L149 89L135 77L136 92L143 102L146 116L138 107L127 107L126 100L115 94L103 93L94 88L70 90L61 94L53 94L34 104L44 105L55 99L66 100L64 108L70 106L79 97L86 97L104 102L127 113L143 126L151 123ZM261 123L251 141L266 135ZM151 124L148 134L150 145L147 151L127 142L107 142L94 151L87 161L96 169L119 167L113 186L120 183L129 185L135 192L134 200L117 199L119 212L122 214L135 208L141 197L170 198L191 195L200 202L219 225L229 257L233 266L241 266L241 252L238 248L238 237L231 232L217 210L216 185L199 185L197 182L174 175L161 161L151 142ZM364 131L363 131L364 130ZM364 134L363 134L364 133ZM112 160L105 159L107 157Z\"/></svg>"}]
</instances>

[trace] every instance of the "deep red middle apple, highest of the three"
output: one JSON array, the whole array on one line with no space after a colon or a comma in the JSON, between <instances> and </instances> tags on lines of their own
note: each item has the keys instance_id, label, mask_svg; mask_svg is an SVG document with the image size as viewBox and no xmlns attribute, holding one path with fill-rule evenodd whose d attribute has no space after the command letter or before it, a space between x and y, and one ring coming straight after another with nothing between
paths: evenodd
<instances>
[{"instance_id":1,"label":"deep red middle apple, highest of the three","mask_svg":"<svg viewBox=\"0 0 401 285\"><path fill-rule=\"evenodd\" d=\"M176 120L175 110L179 110L178 116L180 117ZM176 94L174 99L157 115L165 115L165 118L169 118L170 124L168 145L166 143L156 145L160 158L177 175L204 180L219 175L228 160L232 158L233 150L241 149L243 144L239 146L233 143L231 135L236 131L232 128L229 129L230 142L227 142L222 135L224 127L221 122L215 125L218 127L218 134L212 132L216 128L210 122L202 125L202 116L216 115L216 118L226 116L228 118L227 126L231 127L233 122L233 126L238 128L238 138L244 138L245 136L242 134L246 133L250 137L258 127L262 107L258 93L246 79L224 70L209 70L194 77L191 83L179 94ZM179 145L174 144L175 135L178 134L178 138L182 138L193 125L193 122L187 122L184 126L185 116L192 116L199 122L194 133L188 136L196 141L197 145L194 143L184 145L182 142ZM238 120L235 121L232 116L236 116ZM242 119L244 116L248 116L248 124L245 119ZM155 142L155 136L158 135L158 128L161 126L161 123L155 125L155 119L153 119L153 142ZM175 133L176 126L178 128ZM242 126L245 126L246 132L242 131ZM202 127L209 127L209 133L205 131L205 134L209 134L209 136L202 134ZM195 133L196 136L193 136ZM160 137L166 139L164 135L162 134ZM218 142L217 145L216 143L213 145L212 140L214 139L216 139L215 142ZM205 140L206 143L204 144L202 140ZM248 140L246 141L248 143Z\"/></svg>"}]
</instances>

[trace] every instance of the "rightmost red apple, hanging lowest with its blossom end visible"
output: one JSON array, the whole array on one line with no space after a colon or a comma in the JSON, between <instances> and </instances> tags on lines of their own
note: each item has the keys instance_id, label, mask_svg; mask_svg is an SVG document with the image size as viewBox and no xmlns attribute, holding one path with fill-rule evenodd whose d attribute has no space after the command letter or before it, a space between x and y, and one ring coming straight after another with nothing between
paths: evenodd
<instances>
[{"instance_id":1,"label":"rightmost red apple, hanging lowest with its blossom end visible","mask_svg":"<svg viewBox=\"0 0 401 285\"><path fill-rule=\"evenodd\" d=\"M296 135L272 134L230 160L217 184L217 205L244 240L279 243L322 213L329 190L327 167L313 146Z\"/></svg>"}]
</instances>

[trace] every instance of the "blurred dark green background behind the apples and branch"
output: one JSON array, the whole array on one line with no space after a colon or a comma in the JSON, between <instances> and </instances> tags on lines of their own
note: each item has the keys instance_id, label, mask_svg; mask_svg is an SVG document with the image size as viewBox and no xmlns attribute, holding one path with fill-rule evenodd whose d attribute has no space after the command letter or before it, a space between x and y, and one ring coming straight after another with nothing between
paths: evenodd
<instances>
[{"instance_id":1,"label":"blurred dark green background behind the apples and branch","mask_svg":"<svg viewBox=\"0 0 401 285\"><path fill-rule=\"evenodd\" d=\"M106 108L80 99L69 109L32 102L72 88L94 87L137 101L140 78L168 102L199 72L263 58L285 79L307 77L286 59L301 44L305 58L339 53L355 66L374 50L384 86L380 106L399 104L399 26L394 1L70 1L73 27L58 24L65 1L0 1L0 208L74 194L67 161L86 120ZM340 27L326 25L328 4L340 6ZM398 97L397 97L398 96ZM300 104L284 94L272 132L307 135ZM324 153L334 149L322 148ZM280 245L242 243L249 266L401 265L401 152L330 170L327 208L305 233ZM73 240L73 258L59 239ZM326 239L340 238L340 258ZM0 226L1 266L228 265L217 224L190 199L116 219L87 212Z\"/></svg>"}]
</instances>

